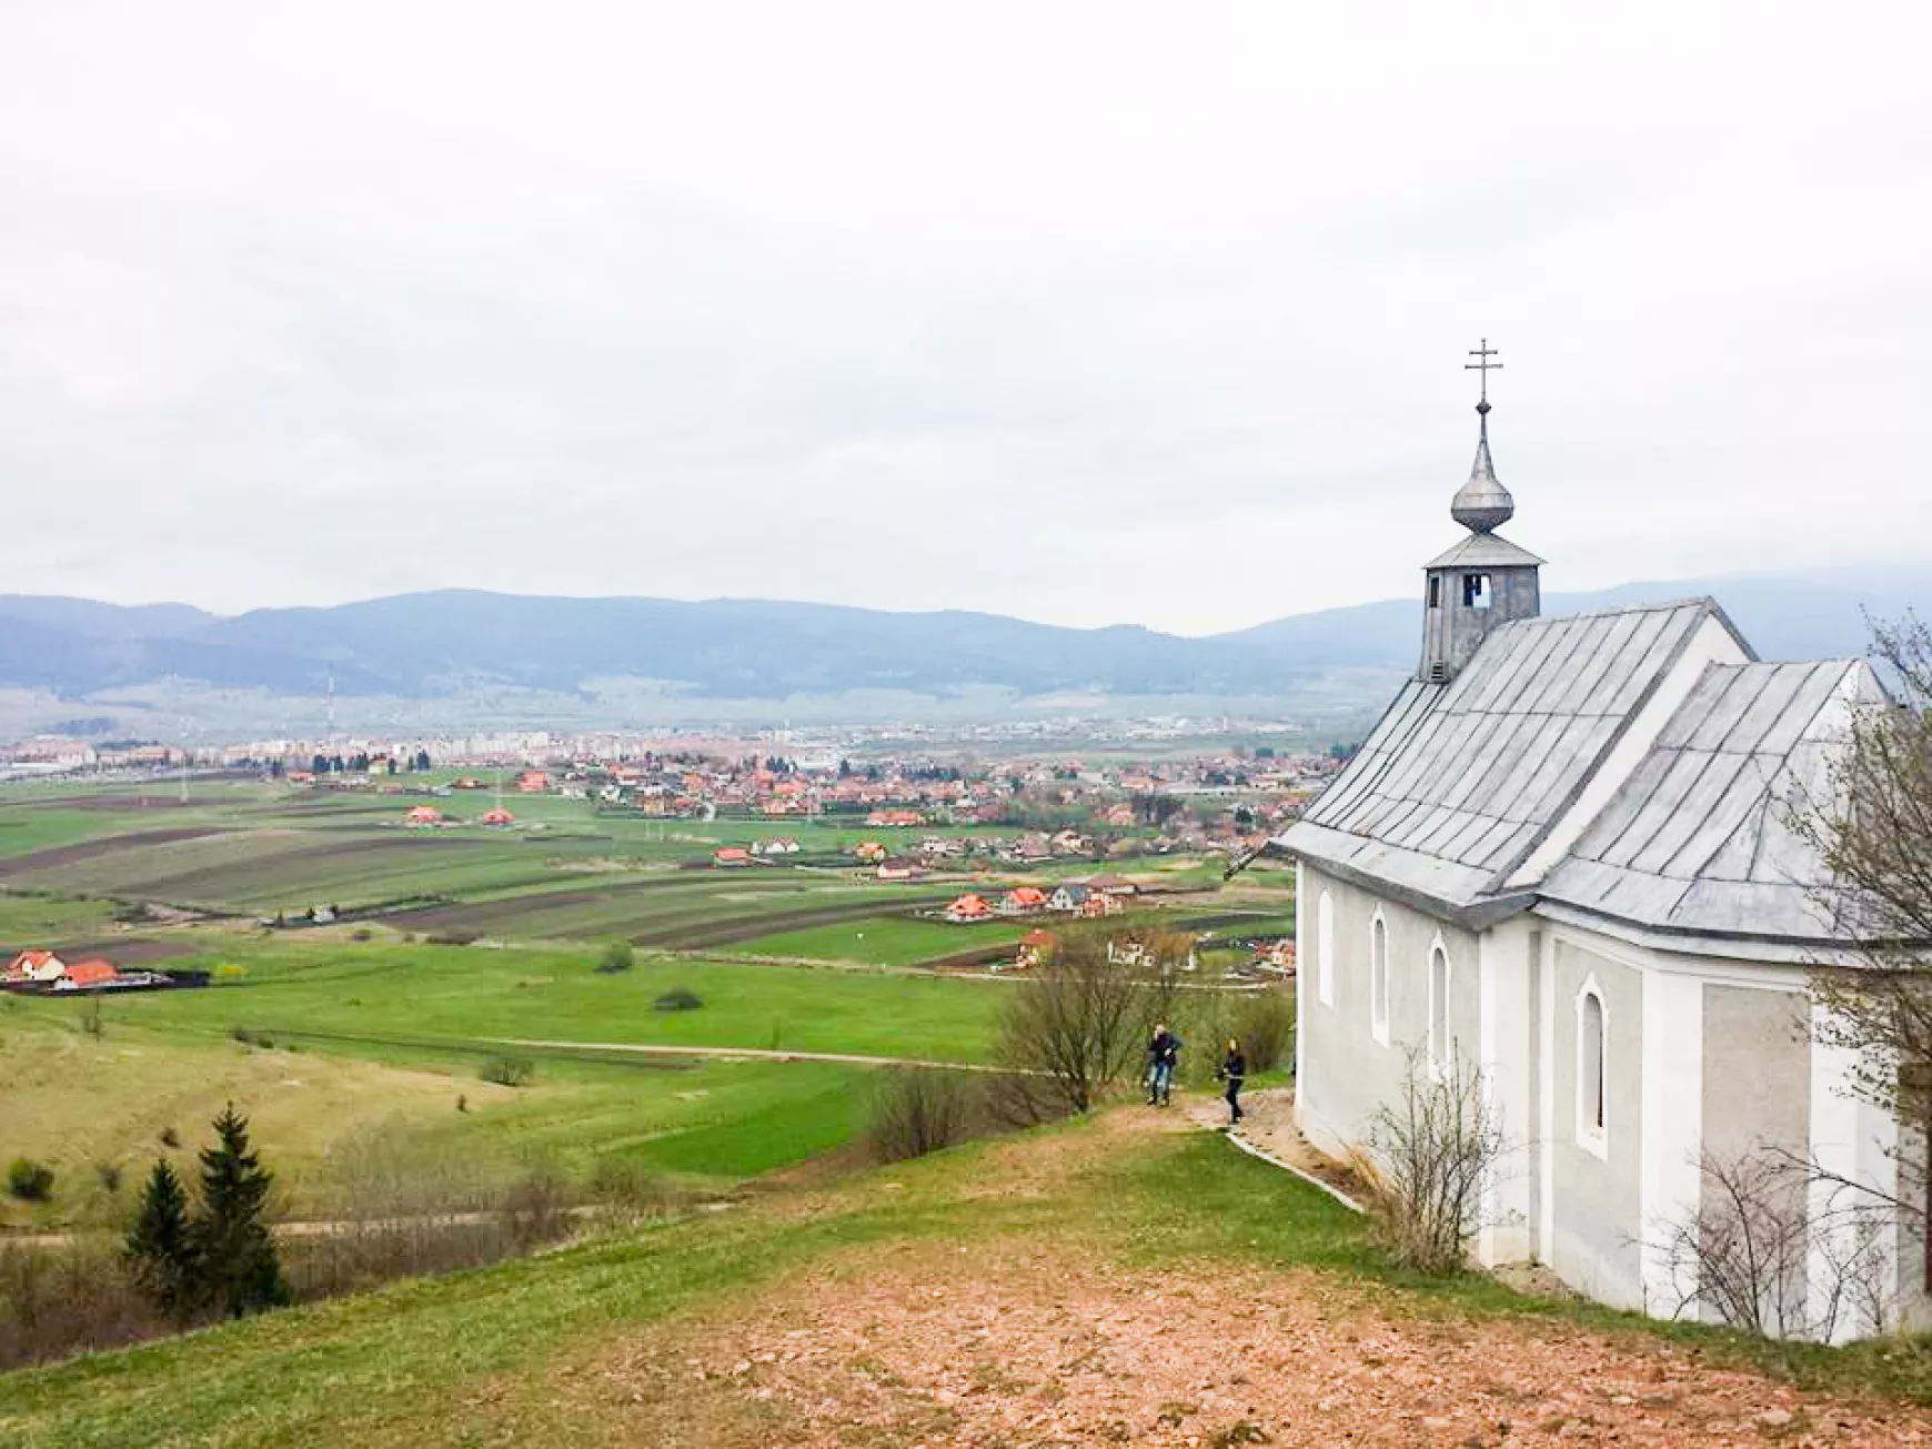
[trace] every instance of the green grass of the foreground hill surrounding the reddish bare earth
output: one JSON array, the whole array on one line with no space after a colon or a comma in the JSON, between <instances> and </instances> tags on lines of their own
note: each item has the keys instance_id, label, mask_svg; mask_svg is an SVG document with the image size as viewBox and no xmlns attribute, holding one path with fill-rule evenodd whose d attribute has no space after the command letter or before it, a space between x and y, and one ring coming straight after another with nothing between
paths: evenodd
<instances>
[{"instance_id":1,"label":"green grass of the foreground hill surrounding the reddish bare earth","mask_svg":"<svg viewBox=\"0 0 1932 1449\"><path fill-rule=\"evenodd\" d=\"M653 1325L667 1320L769 1314L790 1275L813 1265L864 1275L887 1250L958 1264L966 1244L991 1256L1012 1242L1037 1244L1047 1260L1138 1273L1215 1264L1314 1271L1343 1314L1522 1320L1538 1335L1582 1327L1634 1352L1662 1333L1712 1364L1756 1362L1835 1391L1932 1395L1932 1356L1911 1345L1748 1345L1520 1298L1484 1279L1406 1279L1368 1244L1360 1219L1314 1188L1213 1136L1122 1130L1122 1121L981 1144L721 1217L15 1374L0 1379L0 1441L616 1443L630 1397L599 1368L612 1345L649 1356L663 1341L653 1333L665 1331ZM1163 1310L1148 1302L1138 1312Z\"/></svg>"}]
</instances>

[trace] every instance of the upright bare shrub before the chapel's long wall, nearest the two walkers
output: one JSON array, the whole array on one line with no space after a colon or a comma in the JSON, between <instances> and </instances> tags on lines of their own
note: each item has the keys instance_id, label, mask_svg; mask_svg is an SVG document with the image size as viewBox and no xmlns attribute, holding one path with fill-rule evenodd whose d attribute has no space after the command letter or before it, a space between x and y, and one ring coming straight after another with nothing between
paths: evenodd
<instances>
[{"instance_id":1,"label":"upright bare shrub before the chapel's long wall, nearest the two walkers","mask_svg":"<svg viewBox=\"0 0 1932 1449\"><path fill-rule=\"evenodd\" d=\"M1463 1053L1428 1063L1410 1047L1401 1095L1376 1111L1368 1144L1354 1165L1389 1256L1422 1273L1463 1269L1482 1225L1484 1182L1505 1151L1476 1065Z\"/></svg>"}]
</instances>

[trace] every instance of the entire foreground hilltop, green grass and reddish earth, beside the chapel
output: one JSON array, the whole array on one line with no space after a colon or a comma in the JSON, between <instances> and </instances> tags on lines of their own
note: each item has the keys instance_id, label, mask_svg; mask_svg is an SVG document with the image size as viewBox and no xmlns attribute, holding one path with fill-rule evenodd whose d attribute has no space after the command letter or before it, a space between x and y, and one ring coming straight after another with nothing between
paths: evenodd
<instances>
[{"instance_id":1,"label":"entire foreground hilltop, green grass and reddish earth, beside the chapel","mask_svg":"<svg viewBox=\"0 0 1932 1449\"><path fill-rule=\"evenodd\" d=\"M1327 1196L1173 1128L1128 1109L0 1378L0 1441L1497 1443L1501 1420L1505 1443L1683 1443L1768 1406L1818 1443L1932 1430L1820 1397L1924 1397L1915 1349L1410 1281Z\"/></svg>"}]
</instances>

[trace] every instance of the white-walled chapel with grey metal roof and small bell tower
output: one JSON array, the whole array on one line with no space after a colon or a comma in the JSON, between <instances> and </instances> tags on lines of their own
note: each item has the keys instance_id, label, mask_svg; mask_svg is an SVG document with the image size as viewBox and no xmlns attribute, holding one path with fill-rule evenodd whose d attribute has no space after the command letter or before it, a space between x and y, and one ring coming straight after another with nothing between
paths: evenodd
<instances>
[{"instance_id":1,"label":"white-walled chapel with grey metal roof and small bell tower","mask_svg":"<svg viewBox=\"0 0 1932 1449\"><path fill-rule=\"evenodd\" d=\"M1712 1318L1662 1246L1700 1221L1700 1163L1779 1148L1897 1186L1893 1121L1808 1030L1806 968L1853 958L1787 827L1880 686L1862 661L1758 661L1712 599L1542 616L1542 560L1497 533L1515 500L1488 386L1476 412L1449 508L1463 537L1422 570L1414 678L1275 842L1298 883L1298 1124L1333 1153L1364 1146L1410 1051L1461 1055L1513 1144L1482 1262ZM1812 1312L1785 1329L1920 1318L1909 1238L1880 1244L1882 1306L1824 1314L1820 1235L1789 1285Z\"/></svg>"}]
</instances>

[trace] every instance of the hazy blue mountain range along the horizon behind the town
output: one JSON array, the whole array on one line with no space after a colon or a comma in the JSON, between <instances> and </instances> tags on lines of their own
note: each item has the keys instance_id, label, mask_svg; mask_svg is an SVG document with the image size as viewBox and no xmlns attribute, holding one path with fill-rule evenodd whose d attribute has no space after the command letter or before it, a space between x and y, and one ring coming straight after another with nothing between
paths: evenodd
<instances>
[{"instance_id":1,"label":"hazy blue mountain range along the horizon behind the town","mask_svg":"<svg viewBox=\"0 0 1932 1449\"><path fill-rule=\"evenodd\" d=\"M1864 609L1932 605L1932 568L1785 578L1669 580L1555 593L1544 612L1714 595L1766 659L1857 655ZM1072 630L974 612L900 614L808 603L551 599L408 593L332 609L216 616L187 605L120 607L0 595L0 688L66 703L168 686L284 697L458 703L529 692L589 699L628 690L678 699L810 699L883 692L895 701L1188 697L1372 703L1412 668L1412 599L1293 614L1180 638L1138 626Z\"/></svg>"}]
</instances>

